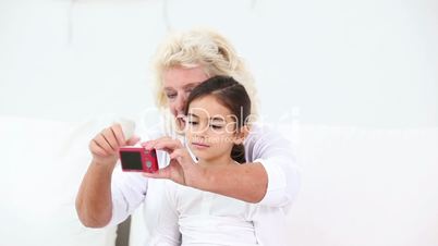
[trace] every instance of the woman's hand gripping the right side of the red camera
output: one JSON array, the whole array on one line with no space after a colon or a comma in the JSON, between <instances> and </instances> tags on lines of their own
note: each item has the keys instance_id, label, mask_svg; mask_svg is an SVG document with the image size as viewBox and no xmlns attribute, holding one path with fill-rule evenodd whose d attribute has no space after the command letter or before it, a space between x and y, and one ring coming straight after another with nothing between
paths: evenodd
<instances>
[{"instance_id":1,"label":"woman's hand gripping the right side of the red camera","mask_svg":"<svg viewBox=\"0 0 438 246\"><path fill-rule=\"evenodd\" d=\"M204 169L195 164L187 149L180 140L170 137L161 137L156 140L143 143L146 149L167 151L170 155L170 163L155 173L144 173L147 177L168 179L181 185L195 187L203 180Z\"/></svg>"}]
</instances>

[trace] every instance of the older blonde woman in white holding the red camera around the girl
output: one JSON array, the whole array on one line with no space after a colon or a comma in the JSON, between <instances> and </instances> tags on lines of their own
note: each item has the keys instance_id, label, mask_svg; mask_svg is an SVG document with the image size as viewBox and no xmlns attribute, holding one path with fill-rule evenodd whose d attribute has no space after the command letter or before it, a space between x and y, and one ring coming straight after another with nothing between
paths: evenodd
<instances>
[{"instance_id":1,"label":"older blonde woman in white holding the red camera around the girl","mask_svg":"<svg viewBox=\"0 0 438 246\"><path fill-rule=\"evenodd\" d=\"M163 114L172 115L172 123L146 136L148 139L143 139L149 140L143 144L146 148L171 152L184 143L182 128L187 97L193 88L216 75L241 82L253 102L252 115L256 115L256 90L251 74L230 42L214 32L190 30L170 36L156 54L155 70L157 104ZM138 140L137 137L125 139L119 124L102 130L90 140L93 160L76 197L76 210L84 225L101 227L120 223L145 204L148 233L153 233L159 220L162 194L160 180L150 177L170 179L200 190L258 204L264 208L257 211L260 218L267 210L284 217L299 189L297 167L290 143L266 126L252 126L244 143L245 164L224 165L209 172L195 162L172 162L169 155L159 153L161 169L149 177L113 172L119 148ZM269 227L276 221L269 220L266 230L283 227ZM281 245L282 239L277 239L277 245Z\"/></svg>"}]
</instances>

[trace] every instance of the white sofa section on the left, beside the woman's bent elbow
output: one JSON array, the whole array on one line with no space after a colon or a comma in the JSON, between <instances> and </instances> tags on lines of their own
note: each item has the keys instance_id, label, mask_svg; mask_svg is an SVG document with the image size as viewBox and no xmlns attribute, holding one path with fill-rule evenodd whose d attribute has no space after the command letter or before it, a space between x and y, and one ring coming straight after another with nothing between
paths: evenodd
<instances>
[{"instance_id":1,"label":"white sofa section on the left, beside the woman's bent elbow","mask_svg":"<svg viewBox=\"0 0 438 246\"><path fill-rule=\"evenodd\" d=\"M74 207L101 125L0 118L1 245L114 245L117 226L87 229Z\"/></svg>"}]
</instances>

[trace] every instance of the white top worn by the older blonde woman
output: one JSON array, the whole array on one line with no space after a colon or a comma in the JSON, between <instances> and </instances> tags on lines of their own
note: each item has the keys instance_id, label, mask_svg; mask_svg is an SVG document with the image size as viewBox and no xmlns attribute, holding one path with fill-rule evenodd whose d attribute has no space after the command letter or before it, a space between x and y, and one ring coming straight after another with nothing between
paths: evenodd
<instances>
[{"instance_id":1,"label":"white top worn by the older blonde woman","mask_svg":"<svg viewBox=\"0 0 438 246\"><path fill-rule=\"evenodd\" d=\"M165 130L141 133L142 140L172 135ZM173 136L175 136L173 134ZM184 140L183 137L180 137ZM290 209L300 185L299 167L293 156L291 143L268 126L254 124L244 142L247 162L259 162L268 175L267 193L258 205L253 218L258 229L257 241L260 245L281 246L287 236L283 219ZM157 151L159 165L169 163L166 152ZM146 238L154 236L163 205L165 181L146 179L139 173L123 173L118 169L111 183L112 219L110 224L122 222L142 202L147 232ZM231 199L231 198L230 198ZM242 201L243 202L243 201ZM276 232L277 236L271 236ZM277 233L278 232L278 233Z\"/></svg>"}]
</instances>

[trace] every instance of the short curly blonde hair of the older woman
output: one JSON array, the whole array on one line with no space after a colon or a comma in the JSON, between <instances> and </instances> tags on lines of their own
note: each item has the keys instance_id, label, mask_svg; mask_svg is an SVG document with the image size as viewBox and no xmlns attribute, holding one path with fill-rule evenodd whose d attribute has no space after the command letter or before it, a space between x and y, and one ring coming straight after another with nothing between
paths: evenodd
<instances>
[{"instance_id":1,"label":"short curly blonde hair of the older woman","mask_svg":"<svg viewBox=\"0 0 438 246\"><path fill-rule=\"evenodd\" d=\"M203 28L172 33L158 48L153 65L156 104L159 109L167 106L162 89L165 72L172 67L200 66L208 77L232 76L241 83L250 95L252 114L257 115L257 91L252 74L231 44L214 30Z\"/></svg>"}]
</instances>

